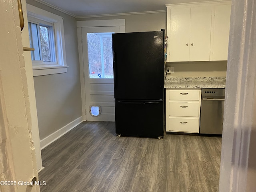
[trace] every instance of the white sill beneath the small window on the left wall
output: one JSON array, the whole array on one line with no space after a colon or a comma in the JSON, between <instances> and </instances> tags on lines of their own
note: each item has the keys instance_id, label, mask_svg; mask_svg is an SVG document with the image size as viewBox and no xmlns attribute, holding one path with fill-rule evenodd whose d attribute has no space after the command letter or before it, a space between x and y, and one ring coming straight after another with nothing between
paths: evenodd
<instances>
[{"instance_id":1,"label":"white sill beneath the small window on the left wall","mask_svg":"<svg viewBox=\"0 0 256 192\"><path fill-rule=\"evenodd\" d=\"M68 66L33 66L33 76L66 73Z\"/></svg>"}]
</instances>

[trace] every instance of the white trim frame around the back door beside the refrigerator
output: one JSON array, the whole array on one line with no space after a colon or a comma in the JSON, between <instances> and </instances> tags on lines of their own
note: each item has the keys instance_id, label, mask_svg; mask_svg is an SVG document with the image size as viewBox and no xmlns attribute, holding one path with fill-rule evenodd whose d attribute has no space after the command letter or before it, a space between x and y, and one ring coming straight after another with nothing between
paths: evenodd
<instances>
[{"instance_id":1,"label":"white trim frame around the back door beside the refrigerator","mask_svg":"<svg viewBox=\"0 0 256 192\"><path fill-rule=\"evenodd\" d=\"M85 94L85 74L84 74L84 59L82 48L82 27L108 27L119 26L120 33L125 32L125 19L114 20L92 20L92 21L77 21L77 39L78 39L78 54L79 54L79 66L80 66L80 83L81 83L81 96L82 96L82 113L84 121L86 118L86 94ZM89 115L89 114L88 114Z\"/></svg>"}]
</instances>

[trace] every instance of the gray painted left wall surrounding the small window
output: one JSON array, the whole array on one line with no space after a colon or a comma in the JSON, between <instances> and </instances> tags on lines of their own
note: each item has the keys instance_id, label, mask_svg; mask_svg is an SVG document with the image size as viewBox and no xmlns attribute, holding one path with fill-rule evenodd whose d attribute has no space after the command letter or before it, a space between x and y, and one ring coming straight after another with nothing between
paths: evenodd
<instances>
[{"instance_id":1,"label":"gray painted left wall surrounding the small window","mask_svg":"<svg viewBox=\"0 0 256 192\"><path fill-rule=\"evenodd\" d=\"M68 72L34 77L40 140L82 116L76 19L48 6L26 3L64 18Z\"/></svg>"}]
</instances>

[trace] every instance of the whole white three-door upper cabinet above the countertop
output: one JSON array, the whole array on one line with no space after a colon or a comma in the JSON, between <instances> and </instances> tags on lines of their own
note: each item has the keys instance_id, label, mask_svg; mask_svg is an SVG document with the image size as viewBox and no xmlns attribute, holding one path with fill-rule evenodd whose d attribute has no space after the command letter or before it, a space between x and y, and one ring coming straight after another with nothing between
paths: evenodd
<instances>
[{"instance_id":1,"label":"whole white three-door upper cabinet above the countertop","mask_svg":"<svg viewBox=\"0 0 256 192\"><path fill-rule=\"evenodd\" d=\"M167 6L167 62L227 60L229 1Z\"/></svg>"}]
</instances>

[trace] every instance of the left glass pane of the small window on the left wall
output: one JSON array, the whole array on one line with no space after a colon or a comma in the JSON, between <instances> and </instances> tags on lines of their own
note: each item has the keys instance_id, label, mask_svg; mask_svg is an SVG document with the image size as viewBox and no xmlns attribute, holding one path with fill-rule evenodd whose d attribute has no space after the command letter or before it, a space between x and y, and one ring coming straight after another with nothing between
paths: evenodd
<instances>
[{"instance_id":1,"label":"left glass pane of the small window on the left wall","mask_svg":"<svg viewBox=\"0 0 256 192\"><path fill-rule=\"evenodd\" d=\"M38 27L37 24L28 22L28 33L30 40L30 47L34 48L34 51L31 51L31 59L41 60L40 57L40 46L39 46L39 38L38 38Z\"/></svg>"}]
</instances>

